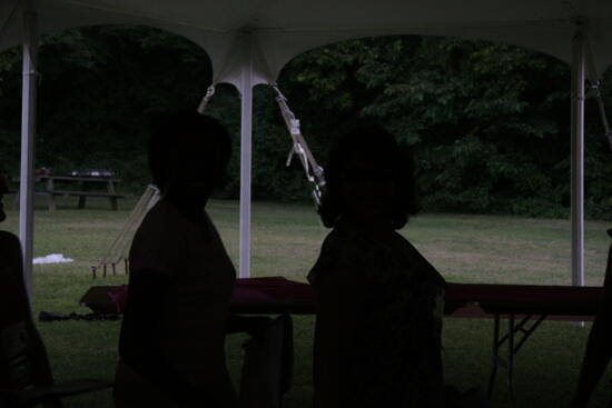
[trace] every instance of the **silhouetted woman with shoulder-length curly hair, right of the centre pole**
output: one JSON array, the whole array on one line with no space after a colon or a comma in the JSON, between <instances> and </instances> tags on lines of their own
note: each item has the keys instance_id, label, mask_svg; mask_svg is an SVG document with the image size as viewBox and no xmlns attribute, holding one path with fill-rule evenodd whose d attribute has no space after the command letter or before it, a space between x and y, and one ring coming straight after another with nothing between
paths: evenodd
<instances>
[{"instance_id":1,"label":"silhouetted woman with shoulder-length curly hair, right of the centre pole","mask_svg":"<svg viewBox=\"0 0 612 408\"><path fill-rule=\"evenodd\" d=\"M342 137L308 279L317 302L315 407L441 407L444 280L395 230L417 210L409 156L379 127Z\"/></svg>"}]
</instances>

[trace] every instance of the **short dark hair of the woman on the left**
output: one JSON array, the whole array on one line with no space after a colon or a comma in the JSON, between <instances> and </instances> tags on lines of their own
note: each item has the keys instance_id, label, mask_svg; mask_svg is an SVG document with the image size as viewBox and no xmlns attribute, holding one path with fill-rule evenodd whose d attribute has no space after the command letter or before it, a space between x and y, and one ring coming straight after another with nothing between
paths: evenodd
<instances>
[{"instance_id":1,"label":"short dark hair of the woman on the left","mask_svg":"<svg viewBox=\"0 0 612 408\"><path fill-rule=\"evenodd\" d=\"M177 147L210 150L220 153L223 168L231 156L231 139L225 127L216 119L195 111L178 111L157 118L149 139L149 168L152 182L161 192L168 177L170 151ZM207 153L214 155L211 151ZM203 160L206 158L203 157ZM223 177L224 175L218 175ZM215 180L220 182L221 180Z\"/></svg>"}]
</instances>

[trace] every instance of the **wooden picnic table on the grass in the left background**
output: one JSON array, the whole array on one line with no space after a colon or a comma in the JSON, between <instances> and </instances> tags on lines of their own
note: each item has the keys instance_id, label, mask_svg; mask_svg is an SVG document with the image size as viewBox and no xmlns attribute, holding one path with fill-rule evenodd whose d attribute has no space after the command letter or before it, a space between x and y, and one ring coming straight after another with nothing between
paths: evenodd
<instances>
[{"instance_id":1,"label":"wooden picnic table on the grass in the left background","mask_svg":"<svg viewBox=\"0 0 612 408\"><path fill-rule=\"evenodd\" d=\"M19 182L19 178L13 178L13 181ZM111 177L38 175L34 181L42 183L42 189L36 190L36 193L47 196L49 211L56 210L56 196L78 197L80 209L85 208L88 197L108 198L113 211L118 209L117 200L124 198L115 188L121 180ZM60 183L61 188L58 188L56 182ZM105 185L106 189L101 185ZM89 188L90 186L93 188ZM19 195L16 197L16 205L19 205Z\"/></svg>"}]
</instances>

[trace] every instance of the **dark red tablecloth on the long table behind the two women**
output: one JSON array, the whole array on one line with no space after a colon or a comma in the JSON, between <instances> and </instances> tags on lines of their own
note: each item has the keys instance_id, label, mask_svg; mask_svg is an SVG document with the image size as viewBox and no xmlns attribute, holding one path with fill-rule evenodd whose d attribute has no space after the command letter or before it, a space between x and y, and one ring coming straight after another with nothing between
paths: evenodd
<instances>
[{"instance_id":1,"label":"dark red tablecloth on the long table behind the two women","mask_svg":"<svg viewBox=\"0 0 612 408\"><path fill-rule=\"evenodd\" d=\"M97 312L122 312L127 287L92 287L81 303ZM477 305L486 314L593 316L601 287L544 285L448 283L447 315ZM308 283L283 277L237 279L230 310L235 314L314 314L315 295Z\"/></svg>"}]
</instances>

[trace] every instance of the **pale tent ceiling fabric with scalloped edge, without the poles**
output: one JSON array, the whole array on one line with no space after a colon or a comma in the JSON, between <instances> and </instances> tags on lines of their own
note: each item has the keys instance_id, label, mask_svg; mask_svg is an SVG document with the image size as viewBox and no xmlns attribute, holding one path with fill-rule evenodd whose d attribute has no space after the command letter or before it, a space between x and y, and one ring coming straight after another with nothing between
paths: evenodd
<instances>
[{"instance_id":1,"label":"pale tent ceiling fabric with scalloped edge, without the poles","mask_svg":"<svg viewBox=\"0 0 612 408\"><path fill-rule=\"evenodd\" d=\"M0 4L0 50L21 43L24 0ZM145 24L201 46L215 82L239 86L239 50L253 46L255 83L274 82L295 56L351 38L453 36L532 48L571 62L575 17L585 19L594 63L612 63L610 0L36 0L40 32Z\"/></svg>"}]
</instances>

